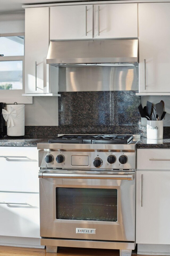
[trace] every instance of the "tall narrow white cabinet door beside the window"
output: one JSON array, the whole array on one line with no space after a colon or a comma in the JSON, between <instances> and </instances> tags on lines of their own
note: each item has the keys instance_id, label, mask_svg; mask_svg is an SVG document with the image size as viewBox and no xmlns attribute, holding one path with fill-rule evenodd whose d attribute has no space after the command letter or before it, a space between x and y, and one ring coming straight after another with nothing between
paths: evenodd
<instances>
[{"instance_id":1,"label":"tall narrow white cabinet door beside the window","mask_svg":"<svg viewBox=\"0 0 170 256\"><path fill-rule=\"evenodd\" d=\"M25 9L25 93L49 93L49 7Z\"/></svg>"}]
</instances>

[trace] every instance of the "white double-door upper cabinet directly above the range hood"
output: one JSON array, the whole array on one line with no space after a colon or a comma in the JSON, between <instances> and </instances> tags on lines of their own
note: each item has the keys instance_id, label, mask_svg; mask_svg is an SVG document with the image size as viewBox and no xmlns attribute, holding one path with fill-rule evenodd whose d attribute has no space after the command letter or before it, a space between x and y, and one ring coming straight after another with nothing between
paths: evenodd
<instances>
[{"instance_id":1,"label":"white double-door upper cabinet directly above the range hood","mask_svg":"<svg viewBox=\"0 0 170 256\"><path fill-rule=\"evenodd\" d=\"M50 40L136 37L137 3L50 7Z\"/></svg>"}]
</instances>

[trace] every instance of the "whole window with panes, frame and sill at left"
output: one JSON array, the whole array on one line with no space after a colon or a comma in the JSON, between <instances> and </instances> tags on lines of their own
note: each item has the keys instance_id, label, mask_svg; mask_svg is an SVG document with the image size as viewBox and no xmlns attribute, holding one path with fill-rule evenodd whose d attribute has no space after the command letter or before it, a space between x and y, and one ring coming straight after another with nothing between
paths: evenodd
<instances>
[{"instance_id":1,"label":"whole window with panes, frame and sill at left","mask_svg":"<svg viewBox=\"0 0 170 256\"><path fill-rule=\"evenodd\" d=\"M0 34L0 102L33 103L32 97L22 96L25 93L24 35Z\"/></svg>"}]
</instances>

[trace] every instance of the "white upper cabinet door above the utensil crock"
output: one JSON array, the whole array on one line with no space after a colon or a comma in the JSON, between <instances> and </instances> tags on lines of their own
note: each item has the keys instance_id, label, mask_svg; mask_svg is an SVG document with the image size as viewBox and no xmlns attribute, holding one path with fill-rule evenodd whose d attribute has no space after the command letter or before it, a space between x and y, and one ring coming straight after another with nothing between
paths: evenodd
<instances>
[{"instance_id":1,"label":"white upper cabinet door above the utensil crock","mask_svg":"<svg viewBox=\"0 0 170 256\"><path fill-rule=\"evenodd\" d=\"M139 3L139 92L170 92L169 13L170 3Z\"/></svg>"}]
</instances>

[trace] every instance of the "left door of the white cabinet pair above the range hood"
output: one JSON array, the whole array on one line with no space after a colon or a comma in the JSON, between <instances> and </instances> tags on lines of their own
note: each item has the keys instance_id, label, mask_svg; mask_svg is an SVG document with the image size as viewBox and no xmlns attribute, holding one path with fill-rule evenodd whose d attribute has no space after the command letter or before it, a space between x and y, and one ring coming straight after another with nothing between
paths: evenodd
<instances>
[{"instance_id":1,"label":"left door of the white cabinet pair above the range hood","mask_svg":"<svg viewBox=\"0 0 170 256\"><path fill-rule=\"evenodd\" d=\"M93 5L50 7L50 40L90 38L93 38Z\"/></svg>"}]
</instances>

